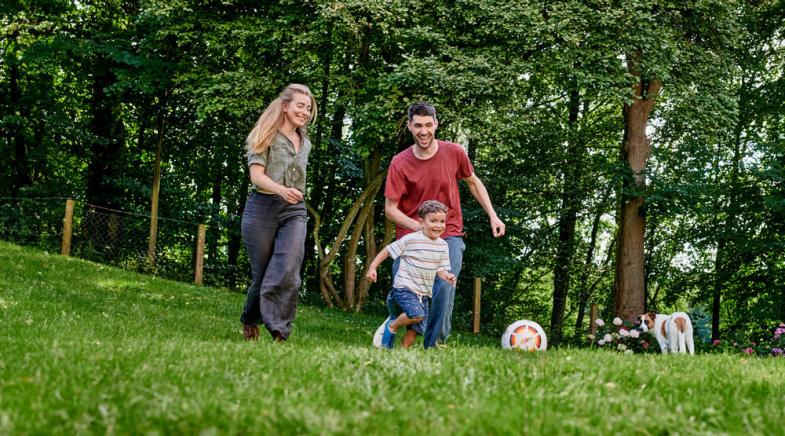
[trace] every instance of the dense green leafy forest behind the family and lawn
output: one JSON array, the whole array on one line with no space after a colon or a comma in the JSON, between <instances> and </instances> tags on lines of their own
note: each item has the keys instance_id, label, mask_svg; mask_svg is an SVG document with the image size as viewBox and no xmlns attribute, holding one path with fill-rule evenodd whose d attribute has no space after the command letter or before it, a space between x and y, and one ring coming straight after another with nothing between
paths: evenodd
<instances>
[{"instance_id":1,"label":"dense green leafy forest behind the family and lawn","mask_svg":"<svg viewBox=\"0 0 785 436\"><path fill-rule=\"evenodd\" d=\"M78 255L150 268L133 261L149 219L131 218L158 185L151 272L190 265L203 223L205 280L241 291L244 138L299 82L319 108L307 303L383 310L389 276L361 278L393 237L382 191L411 144L405 109L429 100L507 224L494 239L463 192L455 324L474 277L484 329L534 319L552 343L580 340L591 303L690 310L704 339L785 320L781 1L11 0L0 14L3 239L51 243L74 198Z\"/></svg>"}]
</instances>

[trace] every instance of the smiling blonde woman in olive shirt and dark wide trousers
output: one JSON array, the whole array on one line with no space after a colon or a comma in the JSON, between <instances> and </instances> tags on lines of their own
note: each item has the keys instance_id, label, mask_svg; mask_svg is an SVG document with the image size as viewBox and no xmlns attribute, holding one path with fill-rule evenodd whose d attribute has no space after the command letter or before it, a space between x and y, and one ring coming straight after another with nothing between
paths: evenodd
<instances>
[{"instance_id":1,"label":"smiling blonde woman in olive shirt and dark wide trousers","mask_svg":"<svg viewBox=\"0 0 785 436\"><path fill-rule=\"evenodd\" d=\"M243 244L253 280L240 317L243 336L259 338L260 323L275 341L289 337L305 250L305 168L316 118L308 87L291 84L259 117L246 139L254 189L243 212Z\"/></svg>"}]
</instances>

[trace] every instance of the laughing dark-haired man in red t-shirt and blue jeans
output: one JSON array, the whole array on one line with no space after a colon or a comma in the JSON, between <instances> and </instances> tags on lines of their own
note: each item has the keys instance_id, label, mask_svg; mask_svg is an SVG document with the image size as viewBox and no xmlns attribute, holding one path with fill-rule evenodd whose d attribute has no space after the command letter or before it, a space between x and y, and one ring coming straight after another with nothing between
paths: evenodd
<instances>
[{"instance_id":1,"label":"laughing dark-haired man in red t-shirt and blue jeans","mask_svg":"<svg viewBox=\"0 0 785 436\"><path fill-rule=\"evenodd\" d=\"M425 200L437 200L448 207L447 227L441 235L450 249L452 273L458 277L463 263L463 216L458 181L464 180L490 219L494 237L504 235L504 223L496 216L485 185L474 174L466 151L458 144L436 139L439 121L430 103L409 106L409 130L414 144L393 157L384 188L384 211L396 226L396 237L420 230L417 208ZM393 275L398 262L393 264ZM455 301L455 287L436 279L423 345L430 348L444 343L450 335L450 321ZM416 333L407 331L404 343L411 344Z\"/></svg>"}]
</instances>

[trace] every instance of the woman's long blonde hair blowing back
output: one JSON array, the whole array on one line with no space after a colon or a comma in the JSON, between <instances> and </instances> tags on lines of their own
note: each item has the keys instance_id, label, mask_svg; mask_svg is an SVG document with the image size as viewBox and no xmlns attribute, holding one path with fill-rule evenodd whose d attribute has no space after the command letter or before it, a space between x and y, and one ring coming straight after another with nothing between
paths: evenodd
<instances>
[{"instance_id":1,"label":"woman's long blonde hair blowing back","mask_svg":"<svg viewBox=\"0 0 785 436\"><path fill-rule=\"evenodd\" d=\"M303 94L311 99L311 118L308 119L308 122L311 123L316 119L316 99L313 98L311 90L305 85L290 84L281 91L278 98L267 105L267 109L262 112L251 133L245 138L245 148L249 154L261 153L270 146L273 138L278 133L278 129L284 123L283 106L285 103L292 101L295 94ZM300 134L305 136L305 128L300 130Z\"/></svg>"}]
</instances>

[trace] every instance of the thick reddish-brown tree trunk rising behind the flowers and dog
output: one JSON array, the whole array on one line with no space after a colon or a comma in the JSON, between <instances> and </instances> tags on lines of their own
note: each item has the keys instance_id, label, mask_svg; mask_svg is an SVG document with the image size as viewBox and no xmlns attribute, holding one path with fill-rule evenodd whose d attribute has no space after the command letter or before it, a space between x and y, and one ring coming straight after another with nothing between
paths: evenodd
<instances>
[{"instance_id":1,"label":"thick reddish-brown tree trunk rising behind the flowers and dog","mask_svg":"<svg viewBox=\"0 0 785 436\"><path fill-rule=\"evenodd\" d=\"M622 160L630 175L624 178L621 194L621 215L616 255L614 313L622 319L633 320L644 309L644 249L646 216L643 210L646 189L646 162L651 144L646 136L649 115L662 87L659 80L640 76L636 57L627 60L628 71L638 81L633 85L634 101L624 105L624 138Z\"/></svg>"}]
</instances>

